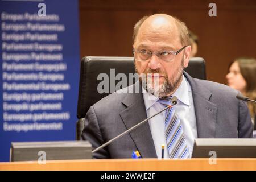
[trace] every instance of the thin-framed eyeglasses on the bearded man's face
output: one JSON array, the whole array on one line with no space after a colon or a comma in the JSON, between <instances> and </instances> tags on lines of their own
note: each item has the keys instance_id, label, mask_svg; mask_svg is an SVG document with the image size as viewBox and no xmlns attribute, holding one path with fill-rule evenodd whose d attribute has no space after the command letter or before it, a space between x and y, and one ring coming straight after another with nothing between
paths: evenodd
<instances>
[{"instance_id":1,"label":"thin-framed eyeglasses on the bearded man's face","mask_svg":"<svg viewBox=\"0 0 256 182\"><path fill-rule=\"evenodd\" d=\"M133 50L133 55L134 55L134 59L137 61L148 61L150 60L150 57L152 56L152 54L156 54L156 56L158 56L161 60L169 62L171 60L174 59L175 55L177 55L178 53L180 53L185 47L179 49L178 51L158 51L158 52L150 52L150 51L136 51Z\"/></svg>"}]
</instances>

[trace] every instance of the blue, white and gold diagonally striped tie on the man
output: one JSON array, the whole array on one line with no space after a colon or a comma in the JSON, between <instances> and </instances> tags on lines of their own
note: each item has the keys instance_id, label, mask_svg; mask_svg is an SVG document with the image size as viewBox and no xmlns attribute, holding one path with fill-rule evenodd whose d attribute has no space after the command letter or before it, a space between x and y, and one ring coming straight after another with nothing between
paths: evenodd
<instances>
[{"instance_id":1,"label":"blue, white and gold diagonally striped tie on the man","mask_svg":"<svg viewBox=\"0 0 256 182\"><path fill-rule=\"evenodd\" d=\"M158 101L164 106L171 105L172 96L162 97ZM174 107L166 110L165 117L166 142L170 158L189 158L183 127Z\"/></svg>"}]
</instances>

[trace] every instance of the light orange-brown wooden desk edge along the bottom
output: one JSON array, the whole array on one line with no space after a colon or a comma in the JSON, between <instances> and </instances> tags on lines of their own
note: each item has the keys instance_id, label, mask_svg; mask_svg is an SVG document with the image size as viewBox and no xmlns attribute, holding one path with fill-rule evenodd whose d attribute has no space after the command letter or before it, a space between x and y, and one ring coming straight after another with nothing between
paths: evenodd
<instances>
[{"instance_id":1,"label":"light orange-brown wooden desk edge along the bottom","mask_svg":"<svg viewBox=\"0 0 256 182\"><path fill-rule=\"evenodd\" d=\"M49 160L38 162L2 162L0 170L254 170L256 158L213 159L89 159L89 160Z\"/></svg>"}]
</instances>

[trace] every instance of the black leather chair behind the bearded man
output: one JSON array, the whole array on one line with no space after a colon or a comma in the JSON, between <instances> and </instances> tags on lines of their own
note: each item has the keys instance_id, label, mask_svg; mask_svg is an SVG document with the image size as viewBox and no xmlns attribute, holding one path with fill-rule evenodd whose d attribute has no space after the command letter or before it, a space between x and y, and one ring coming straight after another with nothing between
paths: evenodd
<instances>
[{"instance_id":1,"label":"black leather chair behind the bearded man","mask_svg":"<svg viewBox=\"0 0 256 182\"><path fill-rule=\"evenodd\" d=\"M114 70L110 70L114 69ZM184 69L194 78L206 79L205 61L201 57L192 57L189 60L189 66ZM112 75L110 74L112 72ZM113 74L114 72L114 74ZM129 73L134 73L134 58L133 57L94 57L88 56L81 60L80 68L80 84L79 84L79 99L77 104L77 129L76 139L81 140L82 130L84 129L84 118L92 106L101 98L108 96L110 92L117 90L110 90L109 93L98 93L97 86L102 80L97 80L100 73L106 73L110 80L115 80L118 73L125 73L128 78ZM114 76L113 76L114 75ZM117 84L119 80L115 80ZM129 86L129 79L127 79L127 86Z\"/></svg>"}]
</instances>

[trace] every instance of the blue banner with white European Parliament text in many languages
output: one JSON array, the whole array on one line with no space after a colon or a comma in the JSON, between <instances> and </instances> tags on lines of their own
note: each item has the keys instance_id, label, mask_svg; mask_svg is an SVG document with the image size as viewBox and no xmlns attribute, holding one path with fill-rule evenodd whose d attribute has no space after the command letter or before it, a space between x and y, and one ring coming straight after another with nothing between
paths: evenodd
<instances>
[{"instance_id":1,"label":"blue banner with white European Parliament text in many languages","mask_svg":"<svg viewBox=\"0 0 256 182\"><path fill-rule=\"evenodd\" d=\"M0 1L0 161L11 142L75 140L77 0Z\"/></svg>"}]
</instances>

